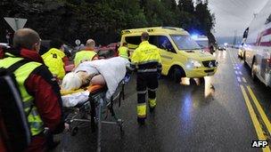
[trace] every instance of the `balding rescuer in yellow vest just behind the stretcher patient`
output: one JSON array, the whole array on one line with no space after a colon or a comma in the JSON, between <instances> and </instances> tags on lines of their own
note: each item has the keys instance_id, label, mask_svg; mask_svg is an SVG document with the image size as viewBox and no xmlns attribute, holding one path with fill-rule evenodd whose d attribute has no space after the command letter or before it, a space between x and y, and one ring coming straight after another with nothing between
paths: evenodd
<instances>
[{"instance_id":1,"label":"balding rescuer in yellow vest just behind the stretcher patient","mask_svg":"<svg viewBox=\"0 0 271 152\"><path fill-rule=\"evenodd\" d=\"M82 63L83 61L87 60L97 60L98 55L94 51L95 42L93 39L88 39L86 41L86 48L82 51L79 51L75 54L74 58L74 65L75 67L78 66L78 64Z\"/></svg>"}]
</instances>

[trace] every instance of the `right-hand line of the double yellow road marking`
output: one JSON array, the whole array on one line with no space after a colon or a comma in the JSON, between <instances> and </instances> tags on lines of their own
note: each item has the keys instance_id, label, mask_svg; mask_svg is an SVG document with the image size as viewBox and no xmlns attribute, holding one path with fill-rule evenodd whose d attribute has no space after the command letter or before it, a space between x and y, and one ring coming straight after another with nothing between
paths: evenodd
<instances>
[{"instance_id":1,"label":"right-hand line of the double yellow road marking","mask_svg":"<svg viewBox=\"0 0 271 152\"><path fill-rule=\"evenodd\" d=\"M255 94L252 92L251 90L251 87L250 86L247 86L249 92L250 92L250 96L254 102L254 104L256 105L256 108L258 109L259 111L259 115L261 116L261 118L263 119L264 123L266 124L267 126L267 130L269 132L269 134L271 134L271 124L270 124L270 121L268 120L267 118L267 115L265 113L265 111L263 110L263 108L261 108L261 106L259 105L259 100L257 100Z\"/></svg>"}]
</instances>

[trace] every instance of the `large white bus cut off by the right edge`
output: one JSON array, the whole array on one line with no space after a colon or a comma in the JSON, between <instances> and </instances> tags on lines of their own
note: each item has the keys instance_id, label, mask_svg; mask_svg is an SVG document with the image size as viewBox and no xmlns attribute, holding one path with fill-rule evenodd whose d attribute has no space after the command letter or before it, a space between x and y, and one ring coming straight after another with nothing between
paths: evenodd
<instances>
[{"instance_id":1,"label":"large white bus cut off by the right edge","mask_svg":"<svg viewBox=\"0 0 271 152\"><path fill-rule=\"evenodd\" d=\"M245 38L243 60L253 80L271 86L271 1L254 18Z\"/></svg>"}]
</instances>

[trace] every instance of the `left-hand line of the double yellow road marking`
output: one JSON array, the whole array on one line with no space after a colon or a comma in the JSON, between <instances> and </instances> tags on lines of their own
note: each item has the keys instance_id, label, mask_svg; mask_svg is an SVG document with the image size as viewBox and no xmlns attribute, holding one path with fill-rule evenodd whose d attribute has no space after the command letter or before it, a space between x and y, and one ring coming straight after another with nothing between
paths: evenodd
<instances>
[{"instance_id":1,"label":"left-hand line of the double yellow road marking","mask_svg":"<svg viewBox=\"0 0 271 152\"><path fill-rule=\"evenodd\" d=\"M245 92L244 90L244 87L242 85L240 85L240 88L241 88L241 91L242 91L242 96L245 100L245 103L247 105L247 108L249 110L249 113L250 113L250 117L251 117L251 120L252 120L252 124L254 125L254 128L256 130L256 133L257 133L257 136L258 136L258 139L259 140L267 140L267 138L265 137L264 135L264 132L263 130L261 129L260 127L260 124L259 124L259 120L257 119L257 116L255 114L255 111L254 109L252 108L252 105L250 103L250 100L249 100L249 97L248 97L248 94ZM263 151L270 151L270 148L269 147L266 147L266 148L262 148Z\"/></svg>"}]
</instances>

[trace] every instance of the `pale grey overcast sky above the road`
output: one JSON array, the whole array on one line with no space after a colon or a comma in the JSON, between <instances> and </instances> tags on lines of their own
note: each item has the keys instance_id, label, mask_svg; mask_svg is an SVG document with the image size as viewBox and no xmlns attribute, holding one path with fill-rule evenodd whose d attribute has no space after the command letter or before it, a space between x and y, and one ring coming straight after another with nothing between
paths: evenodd
<instances>
[{"instance_id":1,"label":"pale grey overcast sky above the road","mask_svg":"<svg viewBox=\"0 0 271 152\"><path fill-rule=\"evenodd\" d=\"M268 0L209 0L209 10L215 13L215 36L242 36L249 27L253 13L259 12Z\"/></svg>"}]
</instances>

